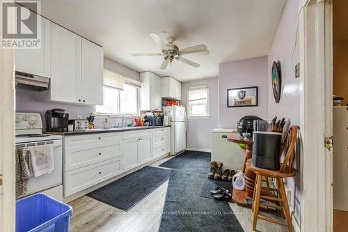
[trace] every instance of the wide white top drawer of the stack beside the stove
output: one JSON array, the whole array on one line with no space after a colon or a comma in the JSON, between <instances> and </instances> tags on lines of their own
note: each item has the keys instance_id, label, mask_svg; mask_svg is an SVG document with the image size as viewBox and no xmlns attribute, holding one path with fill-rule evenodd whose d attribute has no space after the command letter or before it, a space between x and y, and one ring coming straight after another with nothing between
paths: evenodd
<instances>
[{"instance_id":1,"label":"wide white top drawer of the stack beside the stove","mask_svg":"<svg viewBox=\"0 0 348 232\"><path fill-rule=\"evenodd\" d=\"M65 150L81 149L88 150L92 148L100 148L122 142L122 132L116 133L100 133L100 134L84 134L65 137Z\"/></svg>"}]
</instances>

